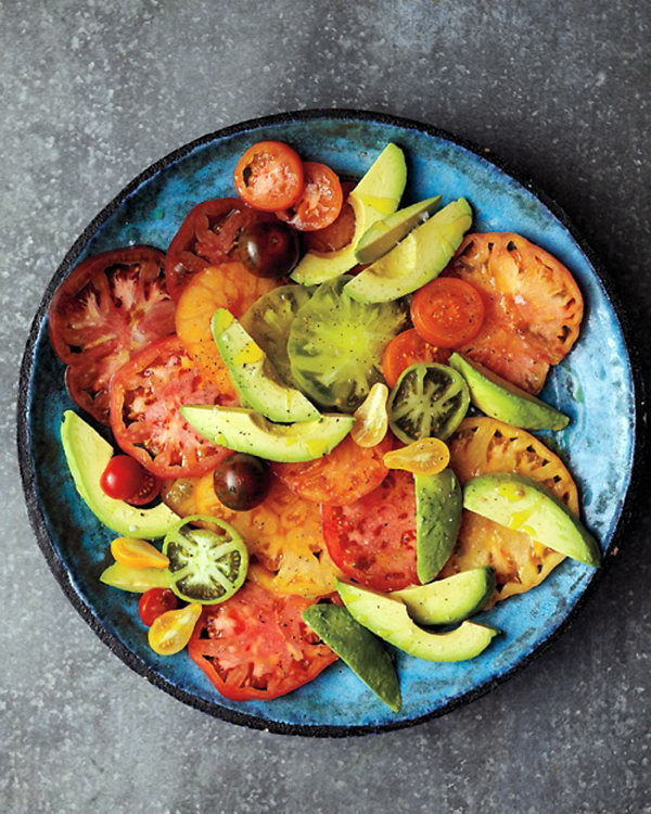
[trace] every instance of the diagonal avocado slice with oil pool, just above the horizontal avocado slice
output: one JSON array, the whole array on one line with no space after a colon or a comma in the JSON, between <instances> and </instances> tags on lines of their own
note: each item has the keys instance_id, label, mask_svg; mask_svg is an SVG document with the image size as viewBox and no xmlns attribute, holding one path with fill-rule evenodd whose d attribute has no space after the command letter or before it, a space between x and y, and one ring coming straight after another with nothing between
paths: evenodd
<instances>
[{"instance_id":1,"label":"diagonal avocado slice with oil pool, just above the horizontal avocado slice","mask_svg":"<svg viewBox=\"0 0 651 814\"><path fill-rule=\"evenodd\" d=\"M271 421L309 421L319 410L301 391L288 387L263 348L227 308L217 308L210 321L213 339L240 398Z\"/></svg>"}]
</instances>

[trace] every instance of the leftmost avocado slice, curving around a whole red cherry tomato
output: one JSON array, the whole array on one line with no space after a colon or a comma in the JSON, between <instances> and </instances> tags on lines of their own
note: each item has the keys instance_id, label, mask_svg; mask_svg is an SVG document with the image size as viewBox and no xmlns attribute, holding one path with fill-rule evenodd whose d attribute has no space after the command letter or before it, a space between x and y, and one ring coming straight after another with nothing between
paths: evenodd
<instances>
[{"instance_id":1,"label":"leftmost avocado slice, curving around a whole red cherry tomato","mask_svg":"<svg viewBox=\"0 0 651 814\"><path fill-rule=\"evenodd\" d=\"M61 425L63 451L77 492L88 508L108 529L125 537L164 537L178 522L178 514L165 504L139 509L105 495L100 479L113 456L113 447L76 412L66 410Z\"/></svg>"}]
</instances>

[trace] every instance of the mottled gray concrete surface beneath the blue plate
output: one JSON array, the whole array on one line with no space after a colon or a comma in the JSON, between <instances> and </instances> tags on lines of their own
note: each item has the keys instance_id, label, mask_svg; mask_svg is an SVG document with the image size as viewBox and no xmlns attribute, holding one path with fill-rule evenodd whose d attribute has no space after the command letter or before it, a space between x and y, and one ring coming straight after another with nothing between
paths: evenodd
<instances>
[{"instance_id":1,"label":"mottled gray concrete surface beneath the blue plate","mask_svg":"<svg viewBox=\"0 0 651 814\"><path fill-rule=\"evenodd\" d=\"M586 234L648 359L649 27L635 0L0 0L0 811L651 811L648 498L523 673L414 729L318 741L212 720L113 657L50 575L14 460L21 353L84 226L171 149L283 110L493 148Z\"/></svg>"}]
</instances>

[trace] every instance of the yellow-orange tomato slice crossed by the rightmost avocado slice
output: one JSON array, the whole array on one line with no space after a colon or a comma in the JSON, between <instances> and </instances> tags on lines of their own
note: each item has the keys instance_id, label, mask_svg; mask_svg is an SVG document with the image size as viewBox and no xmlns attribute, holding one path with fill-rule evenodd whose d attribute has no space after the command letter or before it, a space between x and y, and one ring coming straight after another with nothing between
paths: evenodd
<instances>
[{"instance_id":1,"label":"yellow-orange tomato slice crossed by the rightmost avocado slice","mask_svg":"<svg viewBox=\"0 0 651 814\"><path fill-rule=\"evenodd\" d=\"M494 472L513 472L542 483L578 514L576 484L562 460L524 430L493 418L467 418L448 440L450 467L461 483ZM489 605L539 585L563 560L522 532L463 510L457 545L439 576L482 565L495 570Z\"/></svg>"}]
</instances>

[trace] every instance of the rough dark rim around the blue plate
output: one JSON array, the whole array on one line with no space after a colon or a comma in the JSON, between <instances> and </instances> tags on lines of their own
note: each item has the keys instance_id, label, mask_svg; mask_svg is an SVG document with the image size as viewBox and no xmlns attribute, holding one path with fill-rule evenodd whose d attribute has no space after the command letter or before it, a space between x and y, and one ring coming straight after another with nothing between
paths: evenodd
<instances>
[{"instance_id":1,"label":"rough dark rim around the blue plate","mask_svg":"<svg viewBox=\"0 0 651 814\"><path fill-rule=\"evenodd\" d=\"M99 618L94 614L92 608L88 606L75 590L75 587L69 578L67 570L64 568L62 561L56 556L56 551L50 539L50 535L47 530L47 525L43 518L42 507L40 506L38 492L36 488L36 478L34 472L34 462L30 455L30 441L31 431L28 420L28 408L27 408L27 394L29 389L29 382L31 379L31 371L34 366L34 354L35 346L47 319L47 310L54 293L55 288L63 280L71 268L74 266L77 257L81 253L86 243L93 236L99 226L101 226L115 209L122 205L122 203L144 181L152 178L158 171L165 167L174 164L180 158L188 155L195 148L203 144L207 144L216 139L226 138L232 135L246 132L247 130L257 129L259 127L278 125L293 122L310 122L312 119L339 119L339 120L353 120L353 122L373 122L384 125L393 125L401 127L408 130L418 130L424 132L427 136L435 138L446 139L458 147L474 153L480 158L493 164L498 169L506 173L508 176L518 181L522 187L528 190L535 195L540 203L547 206L548 209L558 218L558 220L570 232L574 241L578 244L582 252L586 255L595 269L597 277L599 278L603 289L605 290L607 296L613 305L615 315L622 327L624 335L624 342L628 351L630 367L631 367L631 379L634 385L634 402L635 402L635 441L633 449L633 462L631 462L631 475L628 484L628 489L622 506L620 517L617 519L617 525L613 533L609 556L604 559L603 567L595 572L590 582L584 589L584 593L578 598L574 608L570 611L566 619L553 631L544 641L541 641L531 653L524 656L521 661L513 665L510 670L506 671L501 675L494 679L485 682L483 685L470 690L469 692L452 699L444 707L441 707L433 712L425 715L421 715L414 718L407 718L395 723L387 723L381 725L360 725L360 726L330 726L330 725L303 725L303 724L284 724L282 722L267 721L257 715L251 715L243 712L237 712L226 707L221 707L218 702L205 701L197 696L188 692L184 689L180 689L175 686L166 678L163 678L155 670L150 667L144 661L137 657L131 650L125 647L118 638L107 631L101 623ZM260 116L257 118L247 119L240 124L231 125L229 127L215 130L214 132L206 133L183 147L174 150L173 152L159 158L154 164L149 166L142 173L140 173L130 183L128 183L84 229L79 238L75 241L73 246L66 253L65 257L61 262L59 268L54 272L50 280L44 294L41 298L41 303L36 313L34 321L31 323L25 352L21 364L20 383L18 383L18 399L17 399L17 445L18 445L18 463L21 470L21 479L23 483L23 491L25 493L25 500L27 504L27 512L29 517L30 525L36 535L38 545L46 558L46 561L52 571L54 577L59 582L63 592L87 622L91 629L99 636L99 638L108 647L108 649L122 659L127 666L133 670L139 675L146 678L154 686L163 689L174 698L183 703L187 703L194 709L201 710L215 717L229 721L234 724L247 726L252 729L261 729L266 732L272 732L281 735L302 735L312 737L333 737L342 738L353 735L368 735L378 734L382 732L390 732L393 729L403 729L416 724L430 721L432 718L444 715L451 710L455 710L470 701L473 701L481 696L486 695L492 689L497 687L502 682L507 681L511 676L519 673L527 664L529 664L536 657L542 653L547 648L556 641L562 633L567 631L580 607L583 607L587 597L591 595L595 589L595 585L601 578L605 567L612 562L614 554L618 550L618 545L623 539L623 533L625 527L630 523L633 519L633 504L639 492L641 471L642 471L642 458L644 448L644 433L642 428L642 417L644 415L644 387L643 378L641 373L641 366L639 356L635 344L631 341L631 330L626 317L626 313L621 304L618 294L615 291L614 284L610 279L608 272L603 268L600 260L597 258L584 237L579 233L576 227L572 224L565 212L552 199L550 199L542 190L540 190L531 179L523 177L520 173L514 170L508 162L494 155L490 149L483 149L465 139L458 138L454 133L442 130L437 127L417 122L414 119L403 118L400 116L394 116L386 113L375 113L372 111L359 111L354 109L312 109L312 110L298 110L290 111L286 113L280 113L269 116Z\"/></svg>"}]
</instances>

